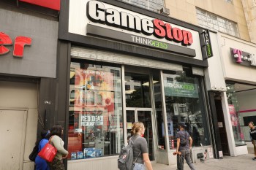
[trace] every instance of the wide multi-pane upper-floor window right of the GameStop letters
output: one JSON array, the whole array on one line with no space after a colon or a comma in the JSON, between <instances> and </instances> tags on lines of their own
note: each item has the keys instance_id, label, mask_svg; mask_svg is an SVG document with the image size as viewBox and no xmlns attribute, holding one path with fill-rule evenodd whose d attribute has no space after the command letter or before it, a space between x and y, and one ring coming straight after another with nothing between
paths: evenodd
<instances>
[{"instance_id":1,"label":"wide multi-pane upper-floor window right of the GameStop letters","mask_svg":"<svg viewBox=\"0 0 256 170\"><path fill-rule=\"evenodd\" d=\"M197 20L198 24L204 28L239 37L237 23L231 20L206 12L203 9L197 9Z\"/></svg>"}]
</instances>

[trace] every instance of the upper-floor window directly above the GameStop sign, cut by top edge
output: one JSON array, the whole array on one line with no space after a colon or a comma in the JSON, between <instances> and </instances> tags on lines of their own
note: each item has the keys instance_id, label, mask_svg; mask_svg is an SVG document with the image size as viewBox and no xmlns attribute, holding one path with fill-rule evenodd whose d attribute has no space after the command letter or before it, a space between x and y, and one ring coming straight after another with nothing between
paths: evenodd
<instances>
[{"instance_id":1,"label":"upper-floor window directly above the GameStop sign, cut by top edge","mask_svg":"<svg viewBox=\"0 0 256 170\"><path fill-rule=\"evenodd\" d=\"M121 0L129 4L134 4L138 7L146 8L154 12L159 12L159 10L164 7L163 0Z\"/></svg>"}]
</instances>

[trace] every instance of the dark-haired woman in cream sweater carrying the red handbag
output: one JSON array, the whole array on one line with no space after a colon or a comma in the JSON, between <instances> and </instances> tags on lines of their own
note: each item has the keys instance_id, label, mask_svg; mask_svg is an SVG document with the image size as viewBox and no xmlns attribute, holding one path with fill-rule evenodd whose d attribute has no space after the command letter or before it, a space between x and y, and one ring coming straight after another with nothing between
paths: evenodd
<instances>
[{"instance_id":1,"label":"dark-haired woman in cream sweater carrying the red handbag","mask_svg":"<svg viewBox=\"0 0 256 170\"><path fill-rule=\"evenodd\" d=\"M62 159L67 158L69 152L64 149L64 142L61 139L63 135L63 128L61 125L53 125L50 129L50 144L52 144L57 149L57 154L52 162L48 163L50 170L64 170L64 164Z\"/></svg>"}]
</instances>

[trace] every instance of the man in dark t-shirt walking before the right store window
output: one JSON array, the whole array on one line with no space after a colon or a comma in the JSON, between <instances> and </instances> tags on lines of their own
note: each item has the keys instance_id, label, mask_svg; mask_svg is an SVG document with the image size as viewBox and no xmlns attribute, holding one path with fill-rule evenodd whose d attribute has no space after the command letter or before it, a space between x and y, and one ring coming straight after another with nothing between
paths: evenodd
<instances>
[{"instance_id":1,"label":"man in dark t-shirt walking before the right store window","mask_svg":"<svg viewBox=\"0 0 256 170\"><path fill-rule=\"evenodd\" d=\"M176 153L179 153L179 152L181 153L181 160L180 160L181 165L179 165L177 168L178 168L178 170L183 170L184 169L184 159L186 159L186 162L189 165L189 168L192 170L195 170L195 167L190 158L190 150L192 148L193 140L189 136L189 133L187 131L184 131L184 128L186 126L187 125L184 122L178 123L178 128L180 131L178 131L178 133L176 135L176 137L177 137Z\"/></svg>"}]
</instances>

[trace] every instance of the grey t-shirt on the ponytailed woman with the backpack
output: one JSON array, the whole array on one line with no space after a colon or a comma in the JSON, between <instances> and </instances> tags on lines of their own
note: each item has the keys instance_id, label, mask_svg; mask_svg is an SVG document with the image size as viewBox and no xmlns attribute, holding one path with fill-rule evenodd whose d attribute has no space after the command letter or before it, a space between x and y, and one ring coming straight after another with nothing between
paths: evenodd
<instances>
[{"instance_id":1,"label":"grey t-shirt on the ponytailed woman with the backpack","mask_svg":"<svg viewBox=\"0 0 256 170\"><path fill-rule=\"evenodd\" d=\"M133 161L138 157L136 163L143 164L143 153L148 152L148 144L146 142L146 139L143 137L140 137L138 134L135 134L132 136L131 140L134 142L133 144ZM141 151L141 152L140 152ZM139 155L140 153L140 155ZM139 155L139 156L138 156Z\"/></svg>"}]
</instances>

